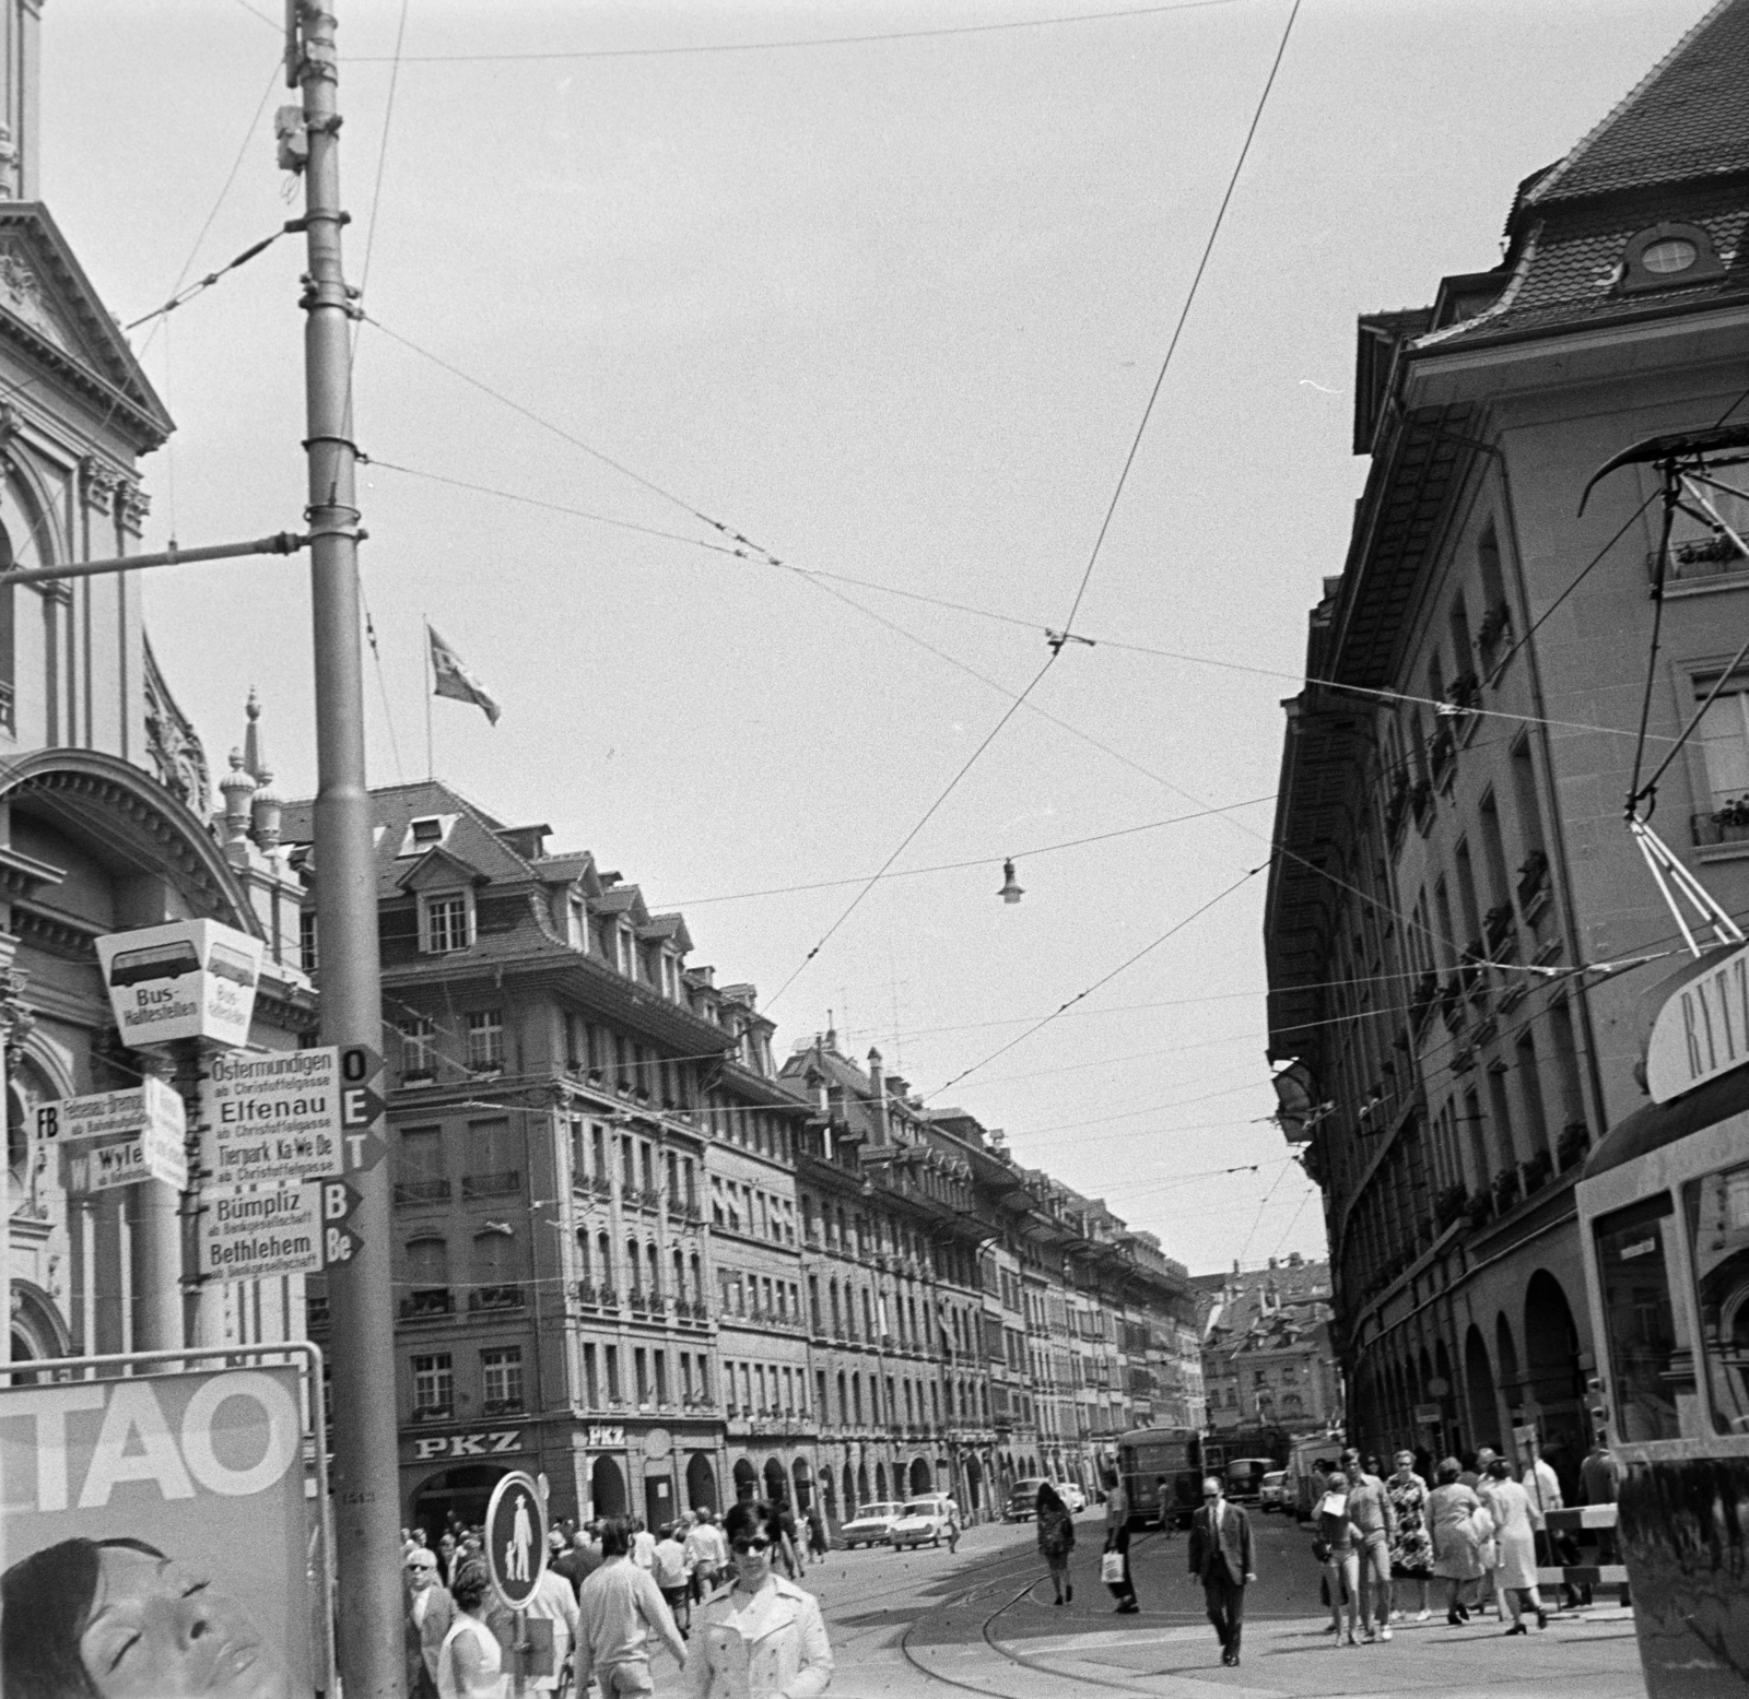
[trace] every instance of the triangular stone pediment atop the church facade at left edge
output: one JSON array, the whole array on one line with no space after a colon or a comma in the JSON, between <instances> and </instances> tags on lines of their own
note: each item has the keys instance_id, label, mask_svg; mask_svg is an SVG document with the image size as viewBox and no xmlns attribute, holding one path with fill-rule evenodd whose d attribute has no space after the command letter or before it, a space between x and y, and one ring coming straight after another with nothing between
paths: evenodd
<instances>
[{"instance_id":1,"label":"triangular stone pediment atop the church facade at left edge","mask_svg":"<svg viewBox=\"0 0 1749 1699\"><path fill-rule=\"evenodd\" d=\"M0 341L101 406L138 453L175 428L66 238L35 201L0 201Z\"/></svg>"}]
</instances>

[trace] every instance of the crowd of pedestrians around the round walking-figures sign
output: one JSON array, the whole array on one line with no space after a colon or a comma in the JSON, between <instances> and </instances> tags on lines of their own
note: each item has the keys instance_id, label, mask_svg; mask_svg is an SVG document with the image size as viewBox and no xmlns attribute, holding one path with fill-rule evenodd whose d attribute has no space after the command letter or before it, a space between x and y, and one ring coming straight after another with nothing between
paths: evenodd
<instances>
[{"instance_id":1,"label":"crowd of pedestrians around the round walking-figures sign","mask_svg":"<svg viewBox=\"0 0 1749 1699\"><path fill-rule=\"evenodd\" d=\"M409 1699L505 1699L504 1647L514 1624L495 1605L479 1528L427 1545L404 1531ZM602 1699L652 1694L651 1654L680 1664L687 1699L808 1699L826 1690L833 1654L813 1596L796 1585L829 1549L819 1512L750 1501L673 1522L605 1517L549 1535L546 1573L526 1617L544 1622L532 1692ZM782 1570L782 1573L778 1573ZM547 1648L549 1643L549 1650Z\"/></svg>"}]
</instances>

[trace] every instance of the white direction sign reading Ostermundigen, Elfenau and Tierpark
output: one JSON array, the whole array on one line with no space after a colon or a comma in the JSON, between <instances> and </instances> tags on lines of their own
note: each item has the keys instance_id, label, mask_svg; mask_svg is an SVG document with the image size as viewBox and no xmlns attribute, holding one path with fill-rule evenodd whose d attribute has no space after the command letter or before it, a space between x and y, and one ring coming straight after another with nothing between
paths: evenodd
<instances>
[{"instance_id":1,"label":"white direction sign reading Ostermundigen, Elfenau and Tierpark","mask_svg":"<svg viewBox=\"0 0 1749 1699\"><path fill-rule=\"evenodd\" d=\"M201 1154L219 1185L282 1185L341 1171L334 1045L215 1056L201 1080Z\"/></svg>"}]
</instances>

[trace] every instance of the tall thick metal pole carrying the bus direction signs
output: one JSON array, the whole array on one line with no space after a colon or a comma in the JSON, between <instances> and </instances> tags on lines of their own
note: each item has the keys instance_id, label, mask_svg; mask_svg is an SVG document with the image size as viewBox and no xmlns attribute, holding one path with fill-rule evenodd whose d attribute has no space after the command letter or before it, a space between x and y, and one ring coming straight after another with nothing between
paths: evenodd
<instances>
[{"instance_id":1,"label":"tall thick metal pole carrying the bus direction signs","mask_svg":"<svg viewBox=\"0 0 1749 1699\"><path fill-rule=\"evenodd\" d=\"M350 299L341 271L339 114L334 0L296 0L303 89L304 400L310 456L310 591L317 689L317 939L322 1040L381 1042L376 874L364 776L364 659L359 636L359 509L353 488ZM388 1164L348 1176L359 1248L329 1271L334 1365L334 1545L339 1666L346 1699L402 1699L401 1493L395 1453L394 1288Z\"/></svg>"}]
</instances>

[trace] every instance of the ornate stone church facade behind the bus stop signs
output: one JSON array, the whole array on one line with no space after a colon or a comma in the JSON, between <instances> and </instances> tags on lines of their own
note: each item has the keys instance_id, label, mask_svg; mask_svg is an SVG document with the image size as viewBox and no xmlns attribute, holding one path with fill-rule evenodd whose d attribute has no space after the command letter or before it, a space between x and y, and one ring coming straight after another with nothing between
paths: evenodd
<instances>
[{"instance_id":1,"label":"ornate stone church facade behind the bus stop signs","mask_svg":"<svg viewBox=\"0 0 1749 1699\"><path fill-rule=\"evenodd\" d=\"M42 196L40 3L0 5L0 568L135 554L140 461L173 423ZM259 739L255 739L259 746ZM257 801L259 792L259 801ZM224 799L220 802L220 797ZM297 879L271 787L238 753L213 785L147 638L138 573L0 586L0 1051L7 1348L12 1363L126 1351L143 1330L147 1208L184 1213L184 1330L301 1332L297 1279L198 1279L189 1203L157 1182L70 1197L37 1133L54 1099L136 1085L94 940L213 919L266 944L250 1044L313 1023ZM196 1175L198 1183L198 1175Z\"/></svg>"}]
</instances>

